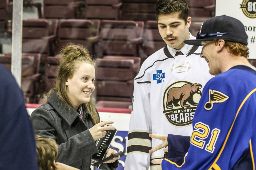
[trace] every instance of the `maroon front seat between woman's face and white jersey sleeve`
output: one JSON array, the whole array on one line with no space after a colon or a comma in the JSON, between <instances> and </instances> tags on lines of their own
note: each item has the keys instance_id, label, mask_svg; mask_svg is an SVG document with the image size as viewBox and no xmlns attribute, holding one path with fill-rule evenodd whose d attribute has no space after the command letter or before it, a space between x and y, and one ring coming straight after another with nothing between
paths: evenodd
<instances>
[{"instance_id":1,"label":"maroon front seat between woman's face and white jersey sleeve","mask_svg":"<svg viewBox=\"0 0 256 170\"><path fill-rule=\"evenodd\" d=\"M97 100L132 101L133 79L140 69L139 57L106 56L96 59Z\"/></svg>"}]
</instances>

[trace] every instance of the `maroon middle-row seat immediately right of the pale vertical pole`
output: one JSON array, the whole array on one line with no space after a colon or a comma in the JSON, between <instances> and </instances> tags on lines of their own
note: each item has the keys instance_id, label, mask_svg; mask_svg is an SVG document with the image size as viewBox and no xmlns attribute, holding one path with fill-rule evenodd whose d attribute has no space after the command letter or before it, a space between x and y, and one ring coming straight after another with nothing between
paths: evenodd
<instances>
[{"instance_id":1,"label":"maroon middle-row seat immediately right of the pale vertical pole","mask_svg":"<svg viewBox=\"0 0 256 170\"><path fill-rule=\"evenodd\" d=\"M41 62L53 54L58 20L28 19L23 20L23 53L40 53Z\"/></svg>"}]
</instances>

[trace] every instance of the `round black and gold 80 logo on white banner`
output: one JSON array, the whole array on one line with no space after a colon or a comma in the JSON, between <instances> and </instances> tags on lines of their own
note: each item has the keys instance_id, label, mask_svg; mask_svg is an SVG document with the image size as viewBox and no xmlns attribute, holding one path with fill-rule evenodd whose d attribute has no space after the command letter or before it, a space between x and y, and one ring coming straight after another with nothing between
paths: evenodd
<instances>
[{"instance_id":1,"label":"round black and gold 80 logo on white banner","mask_svg":"<svg viewBox=\"0 0 256 170\"><path fill-rule=\"evenodd\" d=\"M248 18L256 18L256 0L243 0L241 9Z\"/></svg>"}]
</instances>

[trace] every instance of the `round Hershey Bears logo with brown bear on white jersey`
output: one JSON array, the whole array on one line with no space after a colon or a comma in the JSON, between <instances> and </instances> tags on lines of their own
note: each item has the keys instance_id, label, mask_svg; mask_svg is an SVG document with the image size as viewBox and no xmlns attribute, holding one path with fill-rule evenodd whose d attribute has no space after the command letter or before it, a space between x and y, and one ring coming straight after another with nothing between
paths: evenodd
<instances>
[{"instance_id":1,"label":"round Hershey Bears logo with brown bear on white jersey","mask_svg":"<svg viewBox=\"0 0 256 170\"><path fill-rule=\"evenodd\" d=\"M164 111L167 120L175 126L192 123L197 104L201 98L202 85L188 81L177 81L164 92Z\"/></svg>"}]
</instances>

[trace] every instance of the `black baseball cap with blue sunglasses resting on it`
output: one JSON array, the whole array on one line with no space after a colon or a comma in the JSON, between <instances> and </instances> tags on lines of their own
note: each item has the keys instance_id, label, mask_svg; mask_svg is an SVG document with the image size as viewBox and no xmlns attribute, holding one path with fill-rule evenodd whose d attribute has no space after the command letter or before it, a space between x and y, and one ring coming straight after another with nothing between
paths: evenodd
<instances>
[{"instance_id":1,"label":"black baseball cap with blue sunglasses resting on it","mask_svg":"<svg viewBox=\"0 0 256 170\"><path fill-rule=\"evenodd\" d=\"M226 15L206 20L197 33L196 40L185 40L184 43L201 46L201 41L213 40L227 40L248 45L248 35L242 22Z\"/></svg>"}]
</instances>

